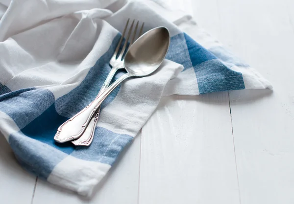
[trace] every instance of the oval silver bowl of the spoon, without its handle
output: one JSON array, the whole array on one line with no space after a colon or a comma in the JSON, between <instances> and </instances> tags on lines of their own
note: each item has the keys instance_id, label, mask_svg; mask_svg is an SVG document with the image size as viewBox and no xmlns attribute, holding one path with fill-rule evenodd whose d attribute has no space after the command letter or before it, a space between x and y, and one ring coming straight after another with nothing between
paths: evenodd
<instances>
[{"instance_id":1,"label":"oval silver bowl of the spoon, without its handle","mask_svg":"<svg viewBox=\"0 0 294 204\"><path fill-rule=\"evenodd\" d=\"M142 35L124 58L124 68L133 76L147 76L163 62L170 45L170 33L166 27L156 27Z\"/></svg>"}]
</instances>

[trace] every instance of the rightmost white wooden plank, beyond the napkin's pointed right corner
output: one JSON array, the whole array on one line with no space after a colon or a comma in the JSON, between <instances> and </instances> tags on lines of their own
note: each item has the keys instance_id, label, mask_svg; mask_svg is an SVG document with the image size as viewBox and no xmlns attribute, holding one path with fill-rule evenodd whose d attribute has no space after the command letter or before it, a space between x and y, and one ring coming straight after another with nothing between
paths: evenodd
<instances>
[{"instance_id":1,"label":"rightmost white wooden plank, beyond the napkin's pointed right corner","mask_svg":"<svg viewBox=\"0 0 294 204\"><path fill-rule=\"evenodd\" d=\"M242 204L294 202L293 10L293 0L220 5L227 43L274 88L230 92Z\"/></svg>"}]
</instances>

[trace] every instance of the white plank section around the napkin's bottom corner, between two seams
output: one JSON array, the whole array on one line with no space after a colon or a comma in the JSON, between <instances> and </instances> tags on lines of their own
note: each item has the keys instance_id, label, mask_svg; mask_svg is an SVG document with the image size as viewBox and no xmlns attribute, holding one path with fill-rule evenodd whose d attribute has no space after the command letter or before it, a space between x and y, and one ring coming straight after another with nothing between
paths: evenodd
<instances>
[{"instance_id":1,"label":"white plank section around the napkin's bottom corner, between two seams","mask_svg":"<svg viewBox=\"0 0 294 204\"><path fill-rule=\"evenodd\" d=\"M32 204L137 204L141 134L127 147L92 198L38 180Z\"/></svg>"}]
</instances>

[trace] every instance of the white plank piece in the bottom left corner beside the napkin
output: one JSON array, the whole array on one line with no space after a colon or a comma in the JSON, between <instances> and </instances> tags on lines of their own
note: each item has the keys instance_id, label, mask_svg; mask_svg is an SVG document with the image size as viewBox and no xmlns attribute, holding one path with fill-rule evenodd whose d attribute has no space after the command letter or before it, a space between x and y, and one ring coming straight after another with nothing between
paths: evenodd
<instances>
[{"instance_id":1,"label":"white plank piece in the bottom left corner beside the napkin","mask_svg":"<svg viewBox=\"0 0 294 204\"><path fill-rule=\"evenodd\" d=\"M0 133L0 203L30 204L36 177L23 170Z\"/></svg>"}]
</instances>

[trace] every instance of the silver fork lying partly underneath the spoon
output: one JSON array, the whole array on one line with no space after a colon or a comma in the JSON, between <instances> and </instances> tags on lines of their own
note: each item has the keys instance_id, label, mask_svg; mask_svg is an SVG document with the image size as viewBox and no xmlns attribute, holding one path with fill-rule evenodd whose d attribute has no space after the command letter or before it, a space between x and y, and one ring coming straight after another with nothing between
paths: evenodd
<instances>
[{"instance_id":1,"label":"silver fork lying partly underneath the spoon","mask_svg":"<svg viewBox=\"0 0 294 204\"><path fill-rule=\"evenodd\" d=\"M131 33L132 33L132 29L133 29L133 26L134 26L134 23L135 23L135 20L133 20L132 24L130 25L130 28L128 30L128 34L127 34L127 37L125 39L125 42L124 42L124 45L123 45L123 48L121 50L121 52L119 53L119 50L120 50L120 47L122 45L122 42L123 42L123 38L124 38L124 34L125 34L125 31L128 27L128 23L129 23L130 19L127 20L125 26L124 26L124 29L123 29L123 34L122 34L122 37L110 59L110 62L109 62L109 65L112 67L112 69L110 70L101 90L99 91L97 97L103 93L103 91L105 91L105 89L107 89L107 87L109 86L111 80L113 79L115 73L119 70L119 69L122 69L124 68L123 67L123 60L124 60L124 53L126 53L127 49L126 48L126 45L127 45L127 42L131 36ZM137 30L138 30L138 26L139 26L139 21L137 21L136 23L136 26L135 26L135 29L134 29L134 32L133 32L133 35L132 35L132 38L131 38L131 41L129 43L129 46L132 45L136 39L136 33L137 33ZM144 27L144 23L142 23L142 26L140 28L140 31L139 31L139 35L138 37L140 37L143 33L143 27ZM128 47L129 47L128 46ZM96 98L97 98L96 97ZM86 127L86 130L85 132L83 133L82 136L80 136L78 139L76 140L73 140L72 143L74 145L77 145L77 146L89 146L92 141L93 141L93 137L94 137L94 132L95 132L95 128L96 128L96 124L97 124L97 121L98 121L98 117L99 117L99 113L100 113L100 108L96 111L96 113L94 113L93 117L91 118L90 120L90 123L89 125Z\"/></svg>"}]
</instances>

